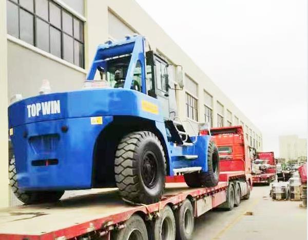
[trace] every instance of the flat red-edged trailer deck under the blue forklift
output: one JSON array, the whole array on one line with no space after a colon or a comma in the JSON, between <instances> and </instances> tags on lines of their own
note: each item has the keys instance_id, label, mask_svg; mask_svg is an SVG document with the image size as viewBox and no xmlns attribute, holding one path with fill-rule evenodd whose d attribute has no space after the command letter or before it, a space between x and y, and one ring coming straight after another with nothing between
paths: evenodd
<instances>
[{"instance_id":1,"label":"flat red-edged trailer deck under the blue forklift","mask_svg":"<svg viewBox=\"0 0 308 240\"><path fill-rule=\"evenodd\" d=\"M55 204L18 206L0 211L0 239L68 239L95 230L104 231L126 221L133 213L159 212L166 204L177 205L187 196L213 196L212 207L225 202L227 182L214 188L188 188L185 183L166 184L156 204L125 204L118 190L75 196Z\"/></svg>"}]
</instances>

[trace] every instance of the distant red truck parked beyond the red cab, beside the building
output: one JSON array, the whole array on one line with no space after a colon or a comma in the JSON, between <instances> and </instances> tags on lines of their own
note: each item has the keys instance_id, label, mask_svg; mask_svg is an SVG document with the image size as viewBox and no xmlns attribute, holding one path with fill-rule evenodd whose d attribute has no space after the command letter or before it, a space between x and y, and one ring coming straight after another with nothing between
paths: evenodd
<instances>
[{"instance_id":1,"label":"distant red truck parked beyond the red cab, beside the building","mask_svg":"<svg viewBox=\"0 0 308 240\"><path fill-rule=\"evenodd\" d=\"M253 184L265 183L269 185L276 177L274 152L258 152L257 159L266 161L266 164L269 165L269 167L266 167L260 174L253 174Z\"/></svg>"}]
</instances>

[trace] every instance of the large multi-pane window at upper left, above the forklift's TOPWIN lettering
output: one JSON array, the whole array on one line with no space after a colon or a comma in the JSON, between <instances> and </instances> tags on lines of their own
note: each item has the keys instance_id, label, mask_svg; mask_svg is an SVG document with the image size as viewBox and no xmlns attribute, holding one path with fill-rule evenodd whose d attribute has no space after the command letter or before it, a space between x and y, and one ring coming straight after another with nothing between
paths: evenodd
<instances>
[{"instance_id":1,"label":"large multi-pane window at upper left, above the forklift's TOPWIN lettering","mask_svg":"<svg viewBox=\"0 0 308 240\"><path fill-rule=\"evenodd\" d=\"M7 31L84 68L84 23L52 0L7 0Z\"/></svg>"}]
</instances>

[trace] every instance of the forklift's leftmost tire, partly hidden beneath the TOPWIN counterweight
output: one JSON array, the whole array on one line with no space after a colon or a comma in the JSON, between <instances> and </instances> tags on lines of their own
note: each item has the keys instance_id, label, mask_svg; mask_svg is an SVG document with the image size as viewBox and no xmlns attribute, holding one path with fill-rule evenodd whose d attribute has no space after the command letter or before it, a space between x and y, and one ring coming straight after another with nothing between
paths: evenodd
<instances>
[{"instance_id":1,"label":"forklift's leftmost tire, partly hidden beneath the TOPWIN counterweight","mask_svg":"<svg viewBox=\"0 0 308 240\"><path fill-rule=\"evenodd\" d=\"M59 201L64 191L22 191L18 188L15 158L9 162L9 180L14 195L24 204L53 203Z\"/></svg>"}]
</instances>

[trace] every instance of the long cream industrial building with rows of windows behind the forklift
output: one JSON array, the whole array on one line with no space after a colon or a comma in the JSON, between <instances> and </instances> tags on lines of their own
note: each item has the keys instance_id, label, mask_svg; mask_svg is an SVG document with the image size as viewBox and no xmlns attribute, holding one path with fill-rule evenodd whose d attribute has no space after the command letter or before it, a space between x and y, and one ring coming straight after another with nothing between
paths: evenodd
<instances>
[{"instance_id":1,"label":"long cream industrial building with rows of windows behind the forklift","mask_svg":"<svg viewBox=\"0 0 308 240\"><path fill-rule=\"evenodd\" d=\"M161 65L183 67L184 89L171 91L170 98L177 101L166 103L175 114L195 128L204 122L211 127L242 125L246 142L262 150L261 131L134 0L5 0L0 1L0 18L0 207L13 202L4 161L11 96L37 95L43 79L52 92L82 89L97 46L125 35L144 35ZM175 71L168 68L172 86L177 84Z\"/></svg>"}]
</instances>

